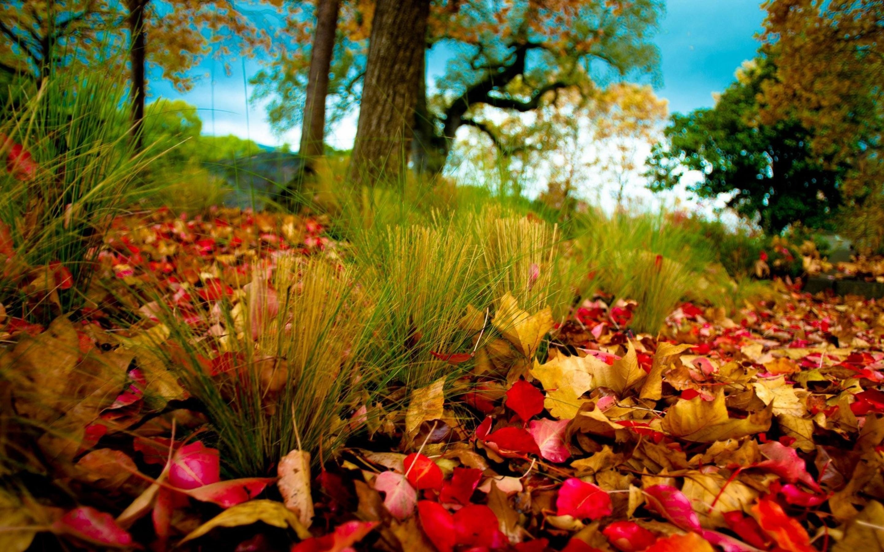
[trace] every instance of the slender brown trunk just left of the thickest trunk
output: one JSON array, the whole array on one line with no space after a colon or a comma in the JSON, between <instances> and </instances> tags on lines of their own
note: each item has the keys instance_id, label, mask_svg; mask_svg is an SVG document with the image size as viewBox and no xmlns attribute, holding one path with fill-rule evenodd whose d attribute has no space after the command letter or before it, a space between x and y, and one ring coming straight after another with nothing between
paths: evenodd
<instances>
[{"instance_id":1,"label":"slender brown trunk just left of the thickest trunk","mask_svg":"<svg viewBox=\"0 0 884 552\"><path fill-rule=\"evenodd\" d=\"M307 168L312 166L316 157L324 154L325 97L329 90L338 8L339 0L319 0L316 3L316 31L313 34L313 51L310 53L307 101L304 104L299 149Z\"/></svg>"}]
</instances>

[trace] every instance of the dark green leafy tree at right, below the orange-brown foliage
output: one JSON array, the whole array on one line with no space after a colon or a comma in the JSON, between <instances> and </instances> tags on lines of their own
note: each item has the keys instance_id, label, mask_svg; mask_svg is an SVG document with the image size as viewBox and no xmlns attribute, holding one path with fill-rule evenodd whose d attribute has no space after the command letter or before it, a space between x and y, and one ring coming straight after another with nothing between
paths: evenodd
<instances>
[{"instance_id":1,"label":"dark green leafy tree at right, below the orange-brown foliage","mask_svg":"<svg viewBox=\"0 0 884 552\"><path fill-rule=\"evenodd\" d=\"M765 56L744 64L736 82L712 109L674 114L665 143L648 163L652 190L673 188L684 170L701 173L690 192L701 198L730 194L728 207L768 233L791 223L831 227L841 204L843 169L814 155L812 132L794 118L766 125L757 96L775 66Z\"/></svg>"}]
</instances>

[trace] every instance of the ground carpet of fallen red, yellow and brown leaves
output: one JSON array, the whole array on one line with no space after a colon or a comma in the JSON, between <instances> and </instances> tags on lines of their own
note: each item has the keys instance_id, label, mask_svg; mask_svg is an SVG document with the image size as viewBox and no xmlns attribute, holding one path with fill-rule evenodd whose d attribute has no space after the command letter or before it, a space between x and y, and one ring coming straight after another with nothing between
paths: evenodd
<instances>
[{"instance_id":1,"label":"ground carpet of fallen red, yellow and brown leaves","mask_svg":"<svg viewBox=\"0 0 884 552\"><path fill-rule=\"evenodd\" d=\"M294 450L230 479L192 389L138 352L144 336L170 359L183 346L157 330L146 290L210 336L256 261L335 261L344 246L322 221L164 210L119 219L105 244L92 308L45 328L10 314L0 330L15 374L4 550L884 546L880 302L774 283L735 313L684 303L659 336L636 336L630 302L587 299L553 321L507 295L465 322L472 350L433 352L448 377L388 397L382 418L342 412L353 436L320 448L312 473ZM34 291L44 307L65 289L65 269L52 276ZM197 364L221 386L234 360Z\"/></svg>"}]
</instances>

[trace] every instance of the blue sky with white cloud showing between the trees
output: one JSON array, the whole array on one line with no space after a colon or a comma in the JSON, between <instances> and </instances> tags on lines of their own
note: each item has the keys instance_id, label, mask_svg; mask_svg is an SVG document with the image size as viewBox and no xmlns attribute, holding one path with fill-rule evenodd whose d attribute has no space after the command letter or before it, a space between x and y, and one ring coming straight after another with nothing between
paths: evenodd
<instances>
[{"instance_id":1,"label":"blue sky with white cloud showing between the trees","mask_svg":"<svg viewBox=\"0 0 884 552\"><path fill-rule=\"evenodd\" d=\"M754 57L764 11L758 0L668 0L667 15L656 37L662 57L663 86L658 95L667 98L670 110L689 111L713 105L713 93L720 92L734 78L743 60ZM430 79L440 72L441 56L429 60ZM236 134L266 145L297 144L298 131L277 136L271 132L262 105L248 105L244 72L250 77L258 69L255 60L245 65L229 60L232 73L208 59L197 69L202 73L193 90L181 94L167 82L150 82L149 100L182 98L201 110L203 132ZM250 89L248 91L250 94ZM248 112L247 112L248 106ZM214 108L214 109L213 109ZM356 114L334 129L329 141L337 147L352 145Z\"/></svg>"}]
</instances>

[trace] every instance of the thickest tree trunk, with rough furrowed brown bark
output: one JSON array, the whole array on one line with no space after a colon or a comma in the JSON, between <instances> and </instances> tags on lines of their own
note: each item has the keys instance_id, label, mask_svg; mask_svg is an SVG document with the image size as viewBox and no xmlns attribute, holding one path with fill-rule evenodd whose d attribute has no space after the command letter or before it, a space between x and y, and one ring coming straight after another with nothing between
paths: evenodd
<instances>
[{"instance_id":1,"label":"thickest tree trunk, with rough furrowed brown bark","mask_svg":"<svg viewBox=\"0 0 884 552\"><path fill-rule=\"evenodd\" d=\"M377 0L350 178L392 183L408 161L430 0Z\"/></svg>"}]
</instances>

